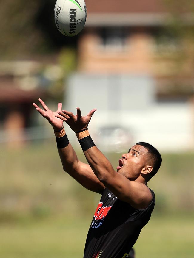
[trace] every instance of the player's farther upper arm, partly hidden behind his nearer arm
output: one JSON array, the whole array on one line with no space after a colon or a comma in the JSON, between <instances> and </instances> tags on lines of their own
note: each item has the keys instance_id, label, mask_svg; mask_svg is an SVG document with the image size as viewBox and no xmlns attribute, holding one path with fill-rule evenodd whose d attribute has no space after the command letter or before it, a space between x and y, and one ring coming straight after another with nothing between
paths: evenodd
<instances>
[{"instance_id":1,"label":"player's farther upper arm, partly hidden behind his nearer arm","mask_svg":"<svg viewBox=\"0 0 194 258\"><path fill-rule=\"evenodd\" d=\"M102 194L105 186L94 174L90 165L78 160L76 168L66 172L86 189Z\"/></svg>"}]
</instances>

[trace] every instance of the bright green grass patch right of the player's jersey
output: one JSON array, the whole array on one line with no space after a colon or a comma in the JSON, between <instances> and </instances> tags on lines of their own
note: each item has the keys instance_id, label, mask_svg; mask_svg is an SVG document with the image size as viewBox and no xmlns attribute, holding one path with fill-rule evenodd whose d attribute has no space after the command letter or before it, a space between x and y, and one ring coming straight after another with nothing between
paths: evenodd
<instances>
[{"instance_id":1,"label":"bright green grass patch right of the player's jersey","mask_svg":"<svg viewBox=\"0 0 194 258\"><path fill-rule=\"evenodd\" d=\"M135 244L137 258L192 258L193 216L153 217Z\"/></svg>"}]
</instances>

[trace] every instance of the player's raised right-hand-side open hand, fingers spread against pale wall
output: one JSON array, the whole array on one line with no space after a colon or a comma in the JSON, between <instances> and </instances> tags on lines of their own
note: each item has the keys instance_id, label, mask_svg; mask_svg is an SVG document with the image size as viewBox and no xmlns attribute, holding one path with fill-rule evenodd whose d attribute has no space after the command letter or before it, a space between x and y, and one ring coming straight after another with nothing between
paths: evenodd
<instances>
[{"instance_id":1,"label":"player's raised right-hand-side open hand, fingers spread against pale wall","mask_svg":"<svg viewBox=\"0 0 194 258\"><path fill-rule=\"evenodd\" d=\"M73 115L72 112L67 110L58 111L56 118L60 118L66 122L74 132L87 129L91 117L93 116L96 109L91 110L86 116L81 116L81 110L77 107L77 115Z\"/></svg>"}]
</instances>

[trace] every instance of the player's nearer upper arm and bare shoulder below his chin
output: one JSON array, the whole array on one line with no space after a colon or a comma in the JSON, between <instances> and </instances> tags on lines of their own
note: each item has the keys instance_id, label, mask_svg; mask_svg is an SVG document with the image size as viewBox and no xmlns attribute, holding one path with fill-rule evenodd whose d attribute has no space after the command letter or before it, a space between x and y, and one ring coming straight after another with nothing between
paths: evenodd
<instances>
[{"instance_id":1,"label":"player's nearer upper arm and bare shoulder below his chin","mask_svg":"<svg viewBox=\"0 0 194 258\"><path fill-rule=\"evenodd\" d=\"M107 177L103 184L121 201L130 203L136 209L147 208L153 198L145 184L130 181L127 177L116 172Z\"/></svg>"}]
</instances>

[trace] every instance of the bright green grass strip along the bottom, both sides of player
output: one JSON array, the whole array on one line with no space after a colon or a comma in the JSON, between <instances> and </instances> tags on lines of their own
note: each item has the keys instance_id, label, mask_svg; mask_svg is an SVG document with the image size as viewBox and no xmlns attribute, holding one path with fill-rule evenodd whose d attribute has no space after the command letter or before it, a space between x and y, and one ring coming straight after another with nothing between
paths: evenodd
<instances>
[{"instance_id":1,"label":"bright green grass strip along the bottom, both sides of player","mask_svg":"<svg viewBox=\"0 0 194 258\"><path fill-rule=\"evenodd\" d=\"M91 218L47 218L0 226L0 257L81 258ZM153 216L135 245L137 258L193 258L193 216Z\"/></svg>"}]
</instances>

